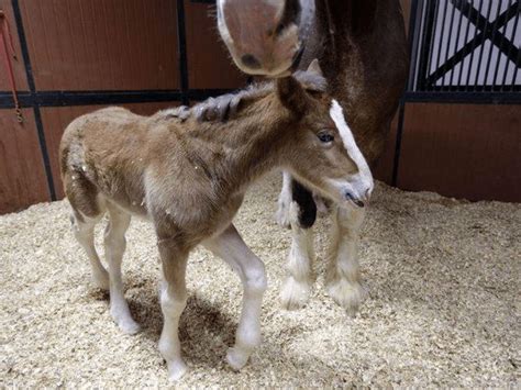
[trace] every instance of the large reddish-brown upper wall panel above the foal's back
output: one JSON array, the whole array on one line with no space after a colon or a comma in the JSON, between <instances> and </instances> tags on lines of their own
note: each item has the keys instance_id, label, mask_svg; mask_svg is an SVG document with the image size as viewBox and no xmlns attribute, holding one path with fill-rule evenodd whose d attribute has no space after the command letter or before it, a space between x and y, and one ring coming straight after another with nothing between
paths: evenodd
<instances>
[{"instance_id":1,"label":"large reddish-brown upper wall panel above the foal's back","mask_svg":"<svg viewBox=\"0 0 521 390\"><path fill-rule=\"evenodd\" d=\"M38 90L178 88L173 0L21 0Z\"/></svg>"}]
</instances>

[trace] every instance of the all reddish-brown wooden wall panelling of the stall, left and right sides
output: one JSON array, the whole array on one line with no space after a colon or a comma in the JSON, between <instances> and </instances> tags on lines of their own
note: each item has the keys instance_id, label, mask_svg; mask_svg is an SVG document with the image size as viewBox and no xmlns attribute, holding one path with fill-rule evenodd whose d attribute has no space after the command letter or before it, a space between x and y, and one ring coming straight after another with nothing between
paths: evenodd
<instances>
[{"instance_id":1,"label":"all reddish-brown wooden wall panelling of the stall, left and right sides","mask_svg":"<svg viewBox=\"0 0 521 390\"><path fill-rule=\"evenodd\" d=\"M406 20L411 0L401 0ZM0 9L11 22L19 91L27 91L11 0ZM19 0L37 91L175 90L179 88L177 11L173 0ZM245 77L221 43L212 7L185 0L188 86L228 89ZM408 25L408 22L406 22ZM10 89L0 71L0 91ZM179 102L129 107L152 113ZM98 107L41 108L55 191L63 197L57 145L66 124ZM48 201L49 193L33 110L15 122L0 109L0 213ZM519 105L406 105L398 186L470 200L521 201ZM391 181L397 120L375 176Z\"/></svg>"}]
</instances>

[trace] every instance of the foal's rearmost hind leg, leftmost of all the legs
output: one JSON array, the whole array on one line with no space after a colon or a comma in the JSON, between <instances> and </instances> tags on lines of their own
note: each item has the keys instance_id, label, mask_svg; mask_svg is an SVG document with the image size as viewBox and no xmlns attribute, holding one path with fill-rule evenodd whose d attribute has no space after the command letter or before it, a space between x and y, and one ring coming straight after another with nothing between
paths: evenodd
<instances>
[{"instance_id":1,"label":"foal's rearmost hind leg, leftmost of all the legs","mask_svg":"<svg viewBox=\"0 0 521 390\"><path fill-rule=\"evenodd\" d=\"M76 239L82 246L92 268L92 279L95 285L100 289L109 289L109 274L100 261L95 246L95 226L101 219L102 214L97 218L79 218L77 211L70 216L73 231Z\"/></svg>"}]
</instances>

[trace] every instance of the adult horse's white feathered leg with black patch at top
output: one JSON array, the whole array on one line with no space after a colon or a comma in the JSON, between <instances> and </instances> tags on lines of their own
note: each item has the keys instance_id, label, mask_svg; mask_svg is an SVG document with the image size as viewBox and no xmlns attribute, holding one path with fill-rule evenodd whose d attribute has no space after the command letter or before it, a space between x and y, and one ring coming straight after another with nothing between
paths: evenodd
<instances>
[{"instance_id":1,"label":"adult horse's white feathered leg with black patch at top","mask_svg":"<svg viewBox=\"0 0 521 390\"><path fill-rule=\"evenodd\" d=\"M312 193L297 181L292 181L290 205L291 249L287 260L288 277L284 282L280 299L288 310L302 308L311 292L312 261L314 259L312 225L317 207Z\"/></svg>"}]
</instances>

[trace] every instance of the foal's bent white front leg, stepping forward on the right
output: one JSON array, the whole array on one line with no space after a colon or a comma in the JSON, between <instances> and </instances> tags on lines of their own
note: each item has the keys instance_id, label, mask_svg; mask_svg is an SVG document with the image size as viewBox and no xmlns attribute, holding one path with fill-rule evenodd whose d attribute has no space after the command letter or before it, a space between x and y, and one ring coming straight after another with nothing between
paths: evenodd
<instances>
[{"instance_id":1,"label":"foal's bent white front leg, stepping forward on the right","mask_svg":"<svg viewBox=\"0 0 521 390\"><path fill-rule=\"evenodd\" d=\"M260 309L266 290L263 261L246 246L235 226L230 225L218 237L203 244L239 274L244 288L243 308L235 333L235 345L228 350L226 360L239 370L260 344Z\"/></svg>"}]
</instances>

